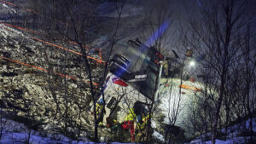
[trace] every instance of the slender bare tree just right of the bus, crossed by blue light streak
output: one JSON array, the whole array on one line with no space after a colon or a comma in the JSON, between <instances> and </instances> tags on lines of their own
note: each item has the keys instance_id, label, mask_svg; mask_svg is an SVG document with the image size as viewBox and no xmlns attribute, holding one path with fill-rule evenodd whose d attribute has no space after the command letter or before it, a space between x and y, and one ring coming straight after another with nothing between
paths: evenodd
<instances>
[{"instance_id":1,"label":"slender bare tree just right of the bus, crossed by blue light streak","mask_svg":"<svg viewBox=\"0 0 256 144\"><path fill-rule=\"evenodd\" d=\"M170 41L168 40L167 32L169 26L171 24L171 16L172 10L169 9L169 4L172 3L170 0L162 1L161 3L157 1L153 1L146 9L145 13L145 26L143 26L143 31L141 32L142 41L147 45L150 49L157 49L160 54L167 50L168 44ZM160 58L157 58L160 61ZM156 75L156 79L154 79L154 94L152 95L152 101L148 101L148 112L149 120L146 126L147 129L147 139L149 141L150 135L150 121L152 118L152 113L156 110L156 99L159 100L159 95L157 95L159 90L160 78L158 75L160 74L160 65L158 66L158 74Z\"/></svg>"}]
</instances>

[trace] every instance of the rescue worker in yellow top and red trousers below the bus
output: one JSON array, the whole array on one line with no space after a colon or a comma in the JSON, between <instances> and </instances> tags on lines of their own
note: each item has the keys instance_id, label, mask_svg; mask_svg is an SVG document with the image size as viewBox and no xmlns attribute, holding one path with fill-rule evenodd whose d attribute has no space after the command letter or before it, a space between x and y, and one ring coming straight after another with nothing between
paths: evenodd
<instances>
[{"instance_id":1,"label":"rescue worker in yellow top and red trousers below the bus","mask_svg":"<svg viewBox=\"0 0 256 144\"><path fill-rule=\"evenodd\" d=\"M136 114L134 113L134 109L129 109L129 114L125 117L125 121L122 124L124 130L131 130L131 141L135 141L134 139L134 121L136 119Z\"/></svg>"}]
</instances>

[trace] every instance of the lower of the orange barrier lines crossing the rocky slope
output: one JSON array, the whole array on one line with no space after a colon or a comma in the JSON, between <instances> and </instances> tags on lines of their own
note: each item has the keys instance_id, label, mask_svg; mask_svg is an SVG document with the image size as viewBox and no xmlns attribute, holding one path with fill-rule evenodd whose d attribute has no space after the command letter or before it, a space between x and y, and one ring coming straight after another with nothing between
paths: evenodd
<instances>
[{"instance_id":1,"label":"lower of the orange barrier lines crossing the rocky slope","mask_svg":"<svg viewBox=\"0 0 256 144\"><path fill-rule=\"evenodd\" d=\"M38 69L38 70L40 70L40 71L47 72L46 69L44 69L44 68L42 68L42 67L39 67L39 66L32 66L32 65L30 65L30 64L26 64L26 63L21 62L21 61L18 61L18 60L9 59L9 58L4 57L4 56L1 56L1 55L0 55L0 57L1 57L3 60L9 60L9 61L15 62L15 63L20 64L20 65L23 65L23 66L30 66L30 67L36 68L36 69ZM59 75L59 76L61 76L61 77L65 77L65 78L70 78L70 79L77 80L77 78L73 78L73 77L70 77L70 76L65 75L65 74L62 74L62 73L55 72L55 74L56 74L56 75ZM84 82L85 82L86 84L90 84L89 81L84 81ZM96 84L96 83L93 83L93 82L92 82L92 84L95 85L95 86L98 86L98 85L99 85L99 84Z\"/></svg>"}]
</instances>

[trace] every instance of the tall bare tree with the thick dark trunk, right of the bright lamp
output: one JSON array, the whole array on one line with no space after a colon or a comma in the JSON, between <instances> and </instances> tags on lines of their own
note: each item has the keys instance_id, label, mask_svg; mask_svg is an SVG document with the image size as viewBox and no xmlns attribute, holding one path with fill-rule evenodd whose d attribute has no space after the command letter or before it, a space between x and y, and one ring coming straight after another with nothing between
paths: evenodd
<instances>
[{"instance_id":1,"label":"tall bare tree with the thick dark trunk, right of the bright lamp","mask_svg":"<svg viewBox=\"0 0 256 144\"><path fill-rule=\"evenodd\" d=\"M242 19L246 4L245 1L234 0L202 3L201 16L190 20L193 32L190 36L190 39L193 39L191 45L194 49L198 49L199 53L206 54L202 65L213 76L209 81L215 91L212 99L214 101L212 143L215 143L225 90L228 78L232 74L230 66L236 63L240 56L237 36L244 27Z\"/></svg>"}]
</instances>

